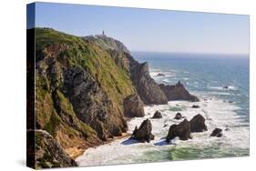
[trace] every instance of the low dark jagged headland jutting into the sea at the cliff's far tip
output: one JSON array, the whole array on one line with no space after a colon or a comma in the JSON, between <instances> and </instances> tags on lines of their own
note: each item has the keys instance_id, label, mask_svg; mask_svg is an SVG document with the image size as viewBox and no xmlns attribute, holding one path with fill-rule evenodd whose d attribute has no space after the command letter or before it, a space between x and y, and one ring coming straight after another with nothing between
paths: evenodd
<instances>
[{"instance_id":1,"label":"low dark jagged headland jutting into the sea at the cliff's far tip","mask_svg":"<svg viewBox=\"0 0 256 171\"><path fill-rule=\"evenodd\" d=\"M168 100L187 100L190 102L200 101L197 96L189 94L189 91L186 90L184 85L178 82L176 85L159 85L162 91L167 96Z\"/></svg>"}]
</instances>

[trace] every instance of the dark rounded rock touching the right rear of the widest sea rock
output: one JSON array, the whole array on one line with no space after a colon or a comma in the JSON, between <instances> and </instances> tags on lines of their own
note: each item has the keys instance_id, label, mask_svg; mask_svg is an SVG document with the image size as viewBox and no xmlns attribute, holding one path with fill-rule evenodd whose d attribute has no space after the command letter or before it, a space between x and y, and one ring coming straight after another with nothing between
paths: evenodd
<instances>
[{"instance_id":1,"label":"dark rounded rock touching the right rear of the widest sea rock","mask_svg":"<svg viewBox=\"0 0 256 171\"><path fill-rule=\"evenodd\" d=\"M207 131L207 126L205 125L205 118L200 114L194 116L190 121L190 129L191 133L199 133L203 131Z\"/></svg>"}]
</instances>

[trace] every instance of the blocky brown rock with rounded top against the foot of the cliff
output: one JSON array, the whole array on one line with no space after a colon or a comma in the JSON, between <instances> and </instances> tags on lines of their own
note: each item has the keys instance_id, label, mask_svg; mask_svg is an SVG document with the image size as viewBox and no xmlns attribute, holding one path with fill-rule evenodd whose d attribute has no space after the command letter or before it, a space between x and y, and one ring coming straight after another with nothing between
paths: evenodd
<instances>
[{"instance_id":1,"label":"blocky brown rock with rounded top against the foot of the cliff","mask_svg":"<svg viewBox=\"0 0 256 171\"><path fill-rule=\"evenodd\" d=\"M124 115L127 117L143 117L144 104L137 94L128 96L124 100Z\"/></svg>"}]
</instances>

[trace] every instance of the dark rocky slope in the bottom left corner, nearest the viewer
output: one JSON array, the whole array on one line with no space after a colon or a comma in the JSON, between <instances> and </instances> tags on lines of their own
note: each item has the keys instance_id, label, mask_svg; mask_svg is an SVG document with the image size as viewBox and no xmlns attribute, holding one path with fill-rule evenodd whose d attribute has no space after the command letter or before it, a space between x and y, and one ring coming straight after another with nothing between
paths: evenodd
<instances>
[{"instance_id":1,"label":"dark rocky slope in the bottom left corner, nearest the viewer","mask_svg":"<svg viewBox=\"0 0 256 171\"><path fill-rule=\"evenodd\" d=\"M36 169L77 166L77 163L67 155L56 139L46 131L28 130L27 134L36 136Z\"/></svg>"}]
</instances>

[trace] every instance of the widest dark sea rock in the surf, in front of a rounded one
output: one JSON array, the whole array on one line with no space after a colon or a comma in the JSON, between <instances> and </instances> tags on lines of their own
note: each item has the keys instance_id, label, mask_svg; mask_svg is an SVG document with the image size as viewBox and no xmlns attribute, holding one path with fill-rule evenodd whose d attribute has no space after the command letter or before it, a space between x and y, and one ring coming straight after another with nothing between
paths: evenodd
<instances>
[{"instance_id":1,"label":"widest dark sea rock in the surf, in front of a rounded one","mask_svg":"<svg viewBox=\"0 0 256 171\"><path fill-rule=\"evenodd\" d=\"M189 121L185 119L179 125L169 126L168 136L166 141L169 143L175 137L179 137L180 140L188 140L190 138L190 126Z\"/></svg>"}]
</instances>

